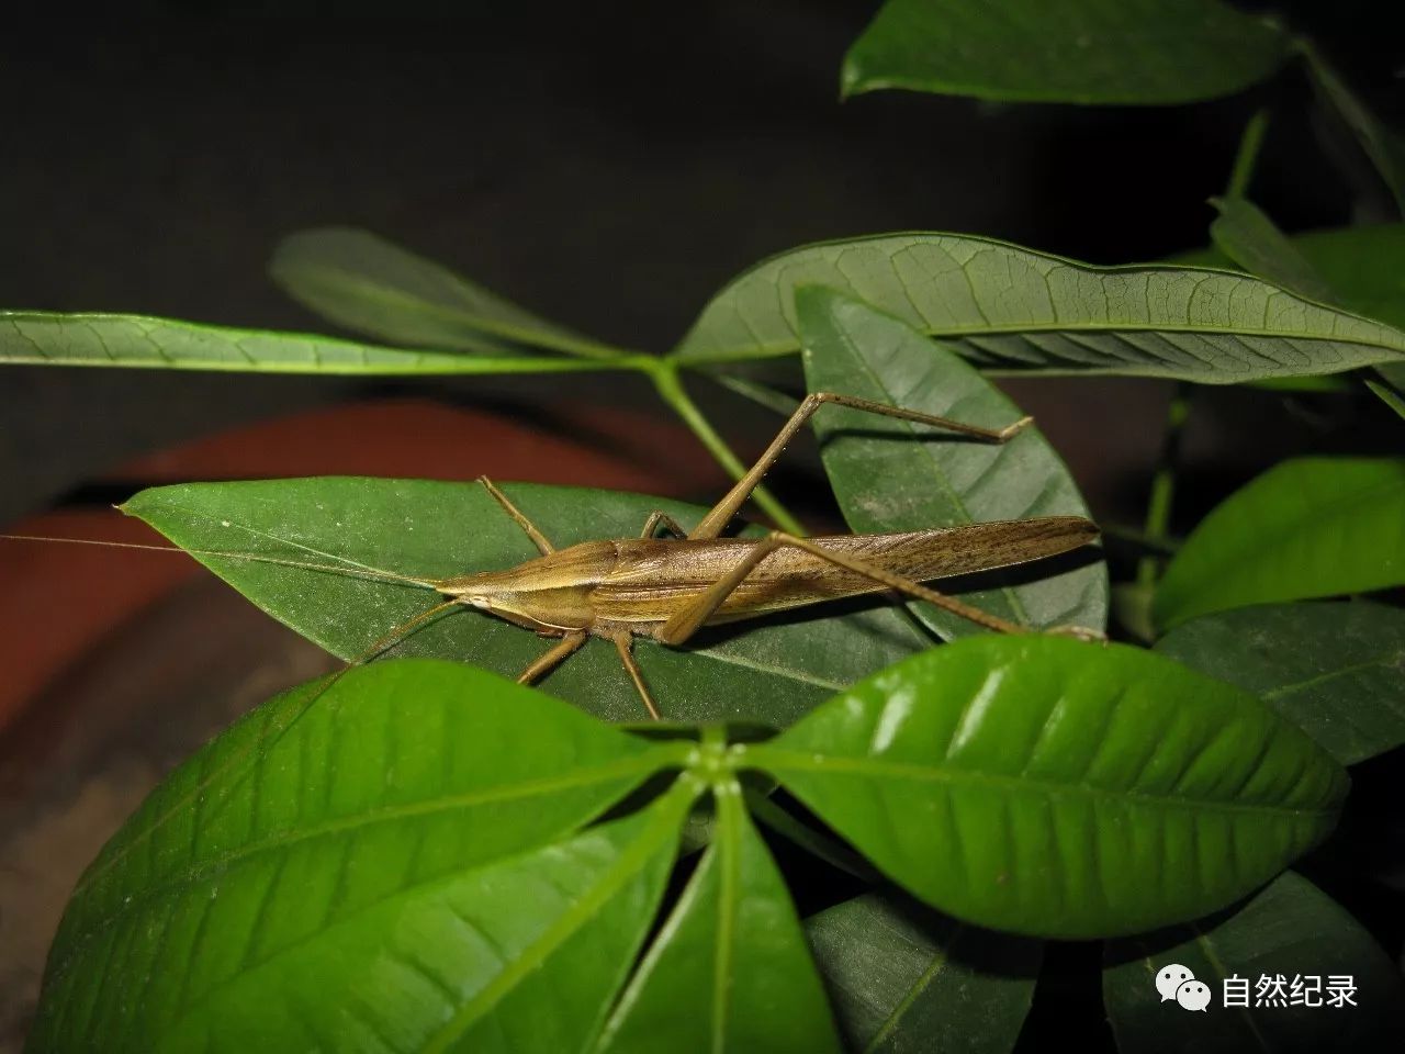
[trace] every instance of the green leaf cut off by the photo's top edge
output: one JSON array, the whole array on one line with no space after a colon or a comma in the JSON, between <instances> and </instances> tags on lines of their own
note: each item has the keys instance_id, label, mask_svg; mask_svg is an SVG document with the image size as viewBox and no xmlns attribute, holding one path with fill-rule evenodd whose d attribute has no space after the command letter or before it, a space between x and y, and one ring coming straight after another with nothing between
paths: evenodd
<instances>
[{"instance_id":1,"label":"green leaf cut off by the photo's top edge","mask_svg":"<svg viewBox=\"0 0 1405 1054\"><path fill-rule=\"evenodd\" d=\"M1194 103L1269 77L1287 44L1215 0L888 0L844 56L843 91Z\"/></svg>"}]
</instances>

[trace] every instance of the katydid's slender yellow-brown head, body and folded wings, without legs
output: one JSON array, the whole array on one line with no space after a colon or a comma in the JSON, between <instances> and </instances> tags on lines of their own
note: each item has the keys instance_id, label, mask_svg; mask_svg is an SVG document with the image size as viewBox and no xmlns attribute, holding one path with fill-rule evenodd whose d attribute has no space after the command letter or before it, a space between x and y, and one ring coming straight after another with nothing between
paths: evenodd
<instances>
[{"instance_id":1,"label":"katydid's slender yellow-brown head, body and folded wings, without legs","mask_svg":"<svg viewBox=\"0 0 1405 1054\"><path fill-rule=\"evenodd\" d=\"M895 534L812 538L829 552L864 561L913 582L1010 566L1068 552L1093 541L1097 527L1078 516L979 523ZM466 604L547 635L653 631L735 568L749 538L625 538L587 541L518 564L440 583ZM767 555L705 624L750 618L884 590L873 578L811 552Z\"/></svg>"}]
</instances>

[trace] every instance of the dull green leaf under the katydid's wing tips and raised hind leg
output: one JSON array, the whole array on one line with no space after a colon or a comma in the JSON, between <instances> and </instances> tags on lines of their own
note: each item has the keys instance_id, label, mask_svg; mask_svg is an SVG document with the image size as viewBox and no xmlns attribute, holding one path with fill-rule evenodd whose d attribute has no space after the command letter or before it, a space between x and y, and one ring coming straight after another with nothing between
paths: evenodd
<instances>
[{"instance_id":1,"label":"dull green leaf under the katydid's wing tips and raised hind leg","mask_svg":"<svg viewBox=\"0 0 1405 1054\"><path fill-rule=\"evenodd\" d=\"M905 322L823 287L802 287L795 297L812 392L857 395L984 427L1023 416L974 367ZM1005 444L976 443L840 406L823 408L813 426L825 472L857 533L1090 516L1068 468L1034 429ZM989 587L961 599L1009 621L1093 630L1107 624L1107 568L1093 554L981 579ZM932 604L910 607L944 638L982 631Z\"/></svg>"}]
</instances>

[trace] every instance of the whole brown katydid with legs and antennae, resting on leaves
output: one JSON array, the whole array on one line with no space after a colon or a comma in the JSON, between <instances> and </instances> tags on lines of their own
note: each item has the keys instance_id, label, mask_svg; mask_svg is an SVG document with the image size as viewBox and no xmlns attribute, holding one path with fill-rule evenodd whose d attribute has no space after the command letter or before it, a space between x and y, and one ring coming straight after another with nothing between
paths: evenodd
<instances>
[{"instance_id":1,"label":"whole brown katydid with legs and antennae, resting on leaves","mask_svg":"<svg viewBox=\"0 0 1405 1054\"><path fill-rule=\"evenodd\" d=\"M556 639L521 672L518 680L523 683L549 673L590 637L604 638L614 644L645 708L655 718L659 708L632 655L636 637L683 646L705 625L884 590L926 600L989 630L1026 632L1023 625L920 583L1068 552L1097 537L1097 527L1089 520L1047 516L894 534L721 537L785 445L826 403L929 424L989 443L1003 443L1031 422L1023 417L1003 429L985 429L856 396L816 392L806 396L756 464L691 531L681 530L667 514L655 512L636 538L586 541L563 549L556 549L485 476L481 482L488 493L541 554L506 571L431 579L254 554L188 551L399 580L433 589L445 597L392 630L354 662L379 655L416 627L455 607L473 607ZM673 537L656 537L660 527ZM1072 631L1097 635L1096 631Z\"/></svg>"}]
</instances>

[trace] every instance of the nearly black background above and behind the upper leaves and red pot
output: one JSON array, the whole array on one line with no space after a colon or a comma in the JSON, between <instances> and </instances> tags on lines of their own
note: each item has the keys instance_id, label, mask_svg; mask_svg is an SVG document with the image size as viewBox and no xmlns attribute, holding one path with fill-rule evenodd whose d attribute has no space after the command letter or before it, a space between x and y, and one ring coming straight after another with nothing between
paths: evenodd
<instances>
[{"instance_id":1,"label":"nearly black background above and behind the upper leaves and red pot","mask_svg":"<svg viewBox=\"0 0 1405 1054\"><path fill-rule=\"evenodd\" d=\"M1293 7L1373 101L1387 111L1398 103L1388 91L1399 55L1373 4ZM903 93L840 104L840 58L875 4L503 8L444 21L167 17L10 28L0 37L0 304L326 330L266 280L264 266L291 230L350 223L549 318L665 350L729 275L818 239L944 229L1099 263L1198 245L1204 201L1224 188L1239 131L1263 103L1279 112L1257 201L1288 229L1363 214L1361 195L1316 145L1293 69L1253 93L1190 107L995 107ZM1371 218L1380 198L1364 201ZM417 391L431 385L509 408L568 395L658 405L632 378L426 381ZM7 368L0 521L132 454L384 391L365 381ZM1087 482L1094 506L1106 492L1135 514L1161 386L1047 385L1030 409L1048 417L1051 399L1055 412L1082 405L1069 415L1075 424L1135 433L1137 458L1109 465L1102 492ZM742 447L774 427L735 399L725 405ZM1273 413L1248 416L1276 431ZM1229 424L1200 426L1193 455L1243 445L1235 429L1245 408L1231 396L1222 416ZM1080 441L1068 429L1061 438ZM1116 436L1083 441L1120 445ZM1076 454L1076 471L1097 468Z\"/></svg>"}]
</instances>

